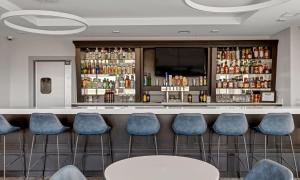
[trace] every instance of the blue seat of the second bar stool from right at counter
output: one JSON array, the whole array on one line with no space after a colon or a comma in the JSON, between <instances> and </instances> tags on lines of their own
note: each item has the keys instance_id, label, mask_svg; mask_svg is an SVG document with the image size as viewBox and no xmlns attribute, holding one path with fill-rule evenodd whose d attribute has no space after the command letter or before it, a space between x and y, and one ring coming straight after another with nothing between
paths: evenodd
<instances>
[{"instance_id":1,"label":"blue seat of the second bar stool from right at counter","mask_svg":"<svg viewBox=\"0 0 300 180\"><path fill-rule=\"evenodd\" d=\"M220 135L241 136L248 130L247 118L242 113L223 113L218 116L213 129Z\"/></svg>"}]
</instances>

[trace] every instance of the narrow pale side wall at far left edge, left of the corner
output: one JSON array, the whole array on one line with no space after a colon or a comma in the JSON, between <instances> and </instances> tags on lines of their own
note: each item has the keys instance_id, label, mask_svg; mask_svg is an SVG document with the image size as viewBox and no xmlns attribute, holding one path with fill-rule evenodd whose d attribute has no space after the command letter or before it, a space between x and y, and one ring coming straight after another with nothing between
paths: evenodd
<instances>
[{"instance_id":1,"label":"narrow pale side wall at far left edge, left of the corner","mask_svg":"<svg viewBox=\"0 0 300 180\"><path fill-rule=\"evenodd\" d=\"M9 106L8 41L0 37L0 106Z\"/></svg>"}]
</instances>

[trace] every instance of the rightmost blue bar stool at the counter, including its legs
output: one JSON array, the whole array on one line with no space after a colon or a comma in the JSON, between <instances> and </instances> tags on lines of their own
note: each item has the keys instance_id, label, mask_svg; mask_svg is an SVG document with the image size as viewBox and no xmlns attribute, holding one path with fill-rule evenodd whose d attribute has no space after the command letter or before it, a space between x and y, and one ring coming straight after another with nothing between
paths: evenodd
<instances>
[{"instance_id":1,"label":"rightmost blue bar stool at the counter, including its legs","mask_svg":"<svg viewBox=\"0 0 300 180\"><path fill-rule=\"evenodd\" d=\"M280 137L280 154L281 154L281 164L282 164L282 137L288 136L290 139L291 149L294 159L294 168L296 176L298 179L298 167L295 158L293 140L291 134L295 129L294 119L290 113L269 113L264 116L260 124L254 128L255 132L263 134L265 138L265 159L267 158L267 138L268 136L277 136ZM256 133L254 132L253 138L253 151L252 151L252 163L254 159L254 150L255 150L255 139Z\"/></svg>"}]
</instances>

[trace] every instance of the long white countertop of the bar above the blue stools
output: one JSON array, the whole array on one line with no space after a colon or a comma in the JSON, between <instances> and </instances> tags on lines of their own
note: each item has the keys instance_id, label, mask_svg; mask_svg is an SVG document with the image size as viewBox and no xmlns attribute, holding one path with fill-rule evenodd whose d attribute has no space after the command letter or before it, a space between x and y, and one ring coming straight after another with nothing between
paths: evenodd
<instances>
[{"instance_id":1,"label":"long white countertop of the bar above the blue stools","mask_svg":"<svg viewBox=\"0 0 300 180\"><path fill-rule=\"evenodd\" d=\"M31 113L77 114L79 112L97 112L100 114L131 114L152 112L155 114L178 113L245 113L267 114L290 112L300 114L300 106L83 106L83 107L57 107L57 108L1 108L0 114L31 114Z\"/></svg>"}]
</instances>

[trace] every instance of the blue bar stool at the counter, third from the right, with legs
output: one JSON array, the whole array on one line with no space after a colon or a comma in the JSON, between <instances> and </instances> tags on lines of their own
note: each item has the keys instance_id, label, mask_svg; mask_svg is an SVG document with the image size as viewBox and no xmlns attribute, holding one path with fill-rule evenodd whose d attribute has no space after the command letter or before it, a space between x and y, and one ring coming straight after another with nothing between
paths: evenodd
<instances>
[{"instance_id":1,"label":"blue bar stool at the counter, third from the right, with legs","mask_svg":"<svg viewBox=\"0 0 300 180\"><path fill-rule=\"evenodd\" d=\"M203 159L206 161L203 134L207 129L207 124L204 116L200 113L182 113L178 114L172 124L175 133L175 152L178 151L179 136L196 136L199 144L199 149L203 151ZM198 138L200 136L201 143ZM201 147L202 144L202 147Z\"/></svg>"}]
</instances>

